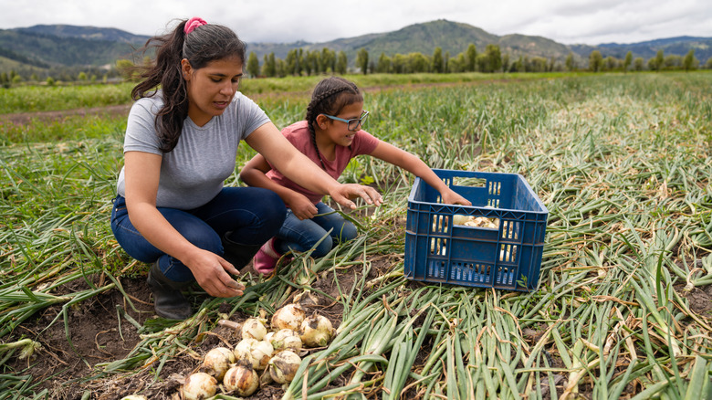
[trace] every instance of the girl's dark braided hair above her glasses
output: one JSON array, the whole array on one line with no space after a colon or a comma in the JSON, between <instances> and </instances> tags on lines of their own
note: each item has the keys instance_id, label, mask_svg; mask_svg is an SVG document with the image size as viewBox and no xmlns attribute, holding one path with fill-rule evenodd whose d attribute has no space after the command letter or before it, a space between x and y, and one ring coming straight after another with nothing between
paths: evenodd
<instances>
[{"instance_id":1,"label":"girl's dark braided hair above her glasses","mask_svg":"<svg viewBox=\"0 0 712 400\"><path fill-rule=\"evenodd\" d=\"M340 77L322 79L311 92L311 100L307 107L307 125L311 133L311 142L317 150L321 168L326 169L317 146L317 132L314 125L319 114L339 115L344 107L353 103L363 102L361 91L355 83Z\"/></svg>"}]
</instances>

